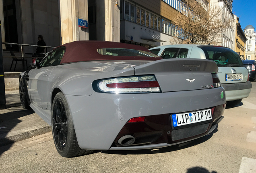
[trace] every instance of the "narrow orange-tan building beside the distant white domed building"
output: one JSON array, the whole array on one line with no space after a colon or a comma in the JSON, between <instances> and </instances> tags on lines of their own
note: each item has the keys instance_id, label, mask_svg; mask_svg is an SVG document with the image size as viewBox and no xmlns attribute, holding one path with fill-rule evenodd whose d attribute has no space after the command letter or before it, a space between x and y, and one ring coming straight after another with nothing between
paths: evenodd
<instances>
[{"instance_id":1,"label":"narrow orange-tan building beside the distant white domed building","mask_svg":"<svg viewBox=\"0 0 256 173\"><path fill-rule=\"evenodd\" d=\"M245 59L245 44L246 44L246 35L244 34L244 31L241 28L241 25L239 24L239 18L234 15L234 18L236 19L235 23L235 40L233 41L234 44L234 51L239 54L240 58L242 60Z\"/></svg>"}]
</instances>

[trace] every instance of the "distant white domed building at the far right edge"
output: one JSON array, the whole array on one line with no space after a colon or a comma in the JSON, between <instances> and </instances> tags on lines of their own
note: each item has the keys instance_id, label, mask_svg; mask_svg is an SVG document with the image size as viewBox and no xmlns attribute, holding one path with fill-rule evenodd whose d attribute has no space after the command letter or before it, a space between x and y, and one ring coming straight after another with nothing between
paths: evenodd
<instances>
[{"instance_id":1,"label":"distant white domed building at the far right edge","mask_svg":"<svg viewBox=\"0 0 256 173\"><path fill-rule=\"evenodd\" d=\"M252 25L247 25L244 28L244 34L246 35L246 60L255 60L255 42L256 42L256 33Z\"/></svg>"}]
</instances>

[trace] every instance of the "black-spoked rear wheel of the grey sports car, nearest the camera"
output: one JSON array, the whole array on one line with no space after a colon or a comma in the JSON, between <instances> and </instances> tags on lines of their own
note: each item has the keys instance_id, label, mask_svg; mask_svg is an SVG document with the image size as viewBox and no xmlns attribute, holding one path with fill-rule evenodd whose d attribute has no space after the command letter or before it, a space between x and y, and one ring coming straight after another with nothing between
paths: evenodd
<instances>
[{"instance_id":1,"label":"black-spoked rear wheel of the grey sports car, nearest the camera","mask_svg":"<svg viewBox=\"0 0 256 173\"><path fill-rule=\"evenodd\" d=\"M74 157L92 152L78 146L68 102L62 92L54 97L52 103L52 135L55 147L62 157Z\"/></svg>"}]
</instances>

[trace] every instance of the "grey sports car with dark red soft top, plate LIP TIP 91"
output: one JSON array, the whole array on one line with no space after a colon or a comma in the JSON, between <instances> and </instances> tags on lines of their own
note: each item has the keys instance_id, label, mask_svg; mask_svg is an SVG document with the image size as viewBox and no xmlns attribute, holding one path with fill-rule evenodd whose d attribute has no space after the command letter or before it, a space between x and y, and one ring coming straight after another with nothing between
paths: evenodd
<instances>
[{"instance_id":1,"label":"grey sports car with dark red soft top, plate LIP TIP 91","mask_svg":"<svg viewBox=\"0 0 256 173\"><path fill-rule=\"evenodd\" d=\"M136 150L211 133L226 106L214 61L163 59L103 41L58 46L20 75L20 99L52 126L63 157Z\"/></svg>"}]
</instances>

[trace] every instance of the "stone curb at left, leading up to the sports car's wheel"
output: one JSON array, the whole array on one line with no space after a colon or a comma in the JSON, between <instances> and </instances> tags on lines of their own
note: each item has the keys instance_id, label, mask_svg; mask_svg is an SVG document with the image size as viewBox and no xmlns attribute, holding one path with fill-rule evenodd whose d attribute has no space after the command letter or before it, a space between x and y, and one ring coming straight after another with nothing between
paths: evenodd
<instances>
[{"instance_id":1,"label":"stone curb at left, leading up to the sports car's wheel","mask_svg":"<svg viewBox=\"0 0 256 173\"><path fill-rule=\"evenodd\" d=\"M42 135L51 131L52 128L49 125L37 125L20 131L3 133L0 134L0 147L17 141L22 141L24 139L28 139L37 135Z\"/></svg>"}]
</instances>

